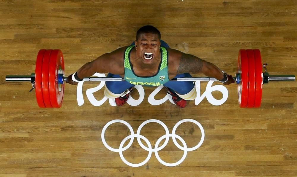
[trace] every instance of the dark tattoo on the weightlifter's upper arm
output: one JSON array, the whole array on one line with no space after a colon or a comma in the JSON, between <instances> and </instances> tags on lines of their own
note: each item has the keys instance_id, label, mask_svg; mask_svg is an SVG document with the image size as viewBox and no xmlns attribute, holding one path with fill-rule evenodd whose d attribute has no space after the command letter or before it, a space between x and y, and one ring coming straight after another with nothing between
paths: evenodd
<instances>
[{"instance_id":1,"label":"dark tattoo on the weightlifter's upper arm","mask_svg":"<svg viewBox=\"0 0 297 177\"><path fill-rule=\"evenodd\" d=\"M181 55L181 61L177 68L177 74L182 74L182 73L196 74L201 71L202 67L203 67L203 62L200 58L195 57L194 55L183 53Z\"/></svg>"}]
</instances>

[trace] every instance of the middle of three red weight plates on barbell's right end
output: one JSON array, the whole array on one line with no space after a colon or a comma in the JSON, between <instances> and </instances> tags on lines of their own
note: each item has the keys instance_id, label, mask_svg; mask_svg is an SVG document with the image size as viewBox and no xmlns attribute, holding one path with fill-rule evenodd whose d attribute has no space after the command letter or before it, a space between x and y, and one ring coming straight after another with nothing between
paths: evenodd
<instances>
[{"instance_id":1,"label":"middle of three red weight plates on barbell's right end","mask_svg":"<svg viewBox=\"0 0 297 177\"><path fill-rule=\"evenodd\" d=\"M247 99L247 108L253 108L255 104L255 55L252 49L247 49L247 59L249 62L249 97Z\"/></svg>"}]
</instances>

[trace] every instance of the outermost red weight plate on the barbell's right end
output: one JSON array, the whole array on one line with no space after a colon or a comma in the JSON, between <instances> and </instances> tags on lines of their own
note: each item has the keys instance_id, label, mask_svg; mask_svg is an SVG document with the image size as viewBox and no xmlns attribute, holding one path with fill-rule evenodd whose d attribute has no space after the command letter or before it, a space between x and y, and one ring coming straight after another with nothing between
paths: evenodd
<instances>
[{"instance_id":1,"label":"outermost red weight plate on the barbell's right end","mask_svg":"<svg viewBox=\"0 0 297 177\"><path fill-rule=\"evenodd\" d=\"M262 58L259 49L254 49L255 54L255 108L261 106L262 101Z\"/></svg>"}]
</instances>

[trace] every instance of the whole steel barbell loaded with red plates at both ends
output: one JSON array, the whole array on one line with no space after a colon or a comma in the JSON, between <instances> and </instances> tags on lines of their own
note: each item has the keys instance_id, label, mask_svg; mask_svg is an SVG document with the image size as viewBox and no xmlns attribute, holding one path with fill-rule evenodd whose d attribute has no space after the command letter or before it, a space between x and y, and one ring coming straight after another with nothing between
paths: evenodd
<instances>
[{"instance_id":1,"label":"whole steel barbell loaded with red plates at both ends","mask_svg":"<svg viewBox=\"0 0 297 177\"><path fill-rule=\"evenodd\" d=\"M241 49L238 54L238 73L233 77L238 84L238 102L241 108L258 108L262 100L262 84L269 81L293 81L294 75L268 75L267 64L262 65L259 49ZM265 68L265 72L262 69ZM8 75L6 81L30 81L35 88L38 106L59 108L64 96L64 58L61 50L42 49L37 54L35 73ZM175 81L217 81L210 77L177 78ZM125 81L122 78L87 77L83 81ZM32 90L31 89L31 90ZM31 91L30 90L30 91Z\"/></svg>"}]
</instances>

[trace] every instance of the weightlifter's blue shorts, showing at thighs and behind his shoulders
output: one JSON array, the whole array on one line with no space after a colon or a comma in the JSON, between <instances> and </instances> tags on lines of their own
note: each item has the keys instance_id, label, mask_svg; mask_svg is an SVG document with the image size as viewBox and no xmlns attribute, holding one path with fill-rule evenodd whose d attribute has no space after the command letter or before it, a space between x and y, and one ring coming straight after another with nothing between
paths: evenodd
<instances>
[{"instance_id":1,"label":"weightlifter's blue shorts, showing at thighs and behind his shoulders","mask_svg":"<svg viewBox=\"0 0 297 177\"><path fill-rule=\"evenodd\" d=\"M131 45L135 45L134 42L132 42ZM169 48L168 44L161 40L161 47ZM107 77L115 77L115 78L121 78L119 75L108 73ZM181 77L192 77L189 73L184 74L177 74L174 79L181 78ZM123 93L125 90L134 87L135 85L130 84L129 82L123 82L123 81L106 81L105 82L106 87L108 90L110 90L112 93L120 94ZM180 95L184 95L189 93L195 86L193 81L169 81L163 84L163 86L170 89L171 92L176 92Z\"/></svg>"}]
</instances>

